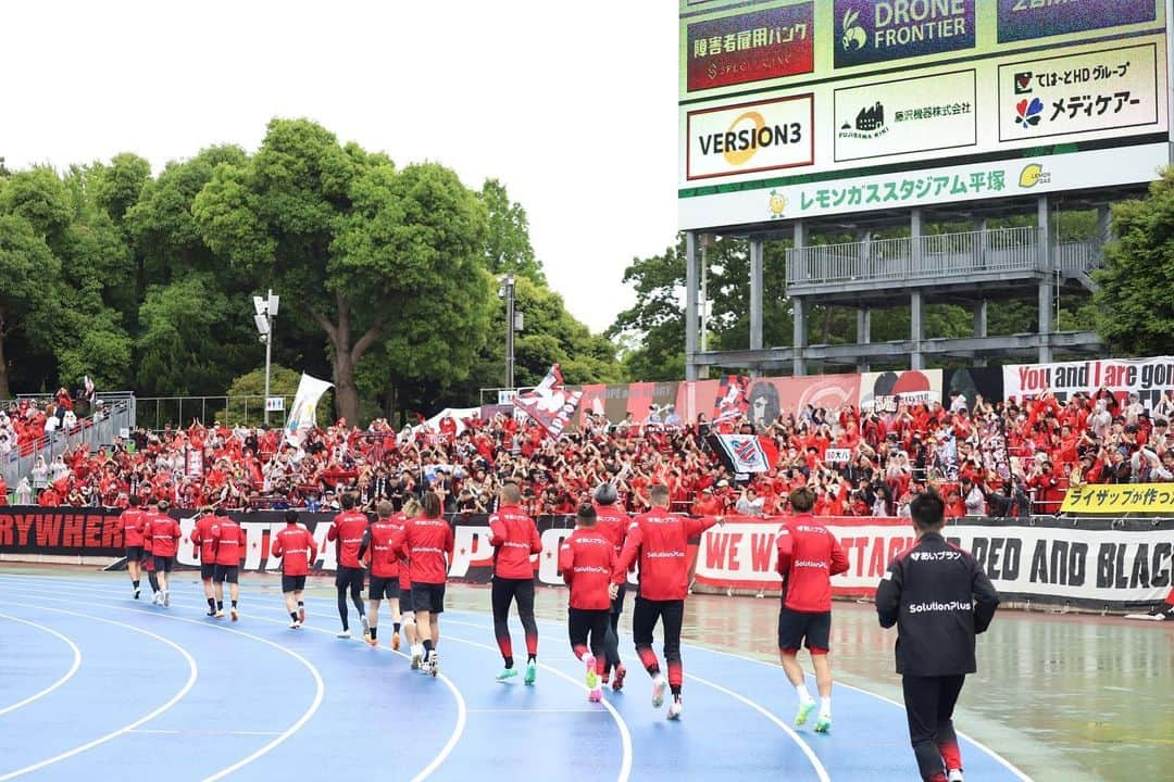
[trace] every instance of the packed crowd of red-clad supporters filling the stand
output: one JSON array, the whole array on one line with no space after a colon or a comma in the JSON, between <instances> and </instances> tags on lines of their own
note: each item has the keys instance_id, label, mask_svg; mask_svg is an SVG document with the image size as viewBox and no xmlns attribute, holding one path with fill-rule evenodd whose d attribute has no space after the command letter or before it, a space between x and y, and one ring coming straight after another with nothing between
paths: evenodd
<instances>
[{"instance_id":1,"label":"packed crowd of red-clad supporters filling the stand","mask_svg":"<svg viewBox=\"0 0 1174 782\"><path fill-rule=\"evenodd\" d=\"M43 410L9 408L9 431L34 433ZM97 450L39 462L15 487L16 502L124 506L133 494L183 508L333 508L344 490L364 506L403 502L425 487L447 512L492 510L504 482L517 482L531 514L568 514L603 481L614 481L630 511L648 508L648 487L669 487L674 510L772 515L798 485L816 490L824 516L905 515L932 487L952 516L1057 512L1070 485L1170 481L1174 403L1147 410L1135 397L1101 390L1061 403L1051 394L1016 402L899 403L892 410L812 409L775 421L681 422L672 412L637 423L587 415L558 440L532 421L451 419L440 431L366 429L338 421L302 446L281 429L204 426L139 429ZM21 422L21 419L28 419ZM15 426L13 426L15 423ZM707 444L707 434L758 434L774 441L772 469L737 481ZM32 436L32 435L31 435ZM851 458L824 461L829 449ZM194 458L194 456L197 456ZM0 502L11 488L0 478Z\"/></svg>"}]
</instances>

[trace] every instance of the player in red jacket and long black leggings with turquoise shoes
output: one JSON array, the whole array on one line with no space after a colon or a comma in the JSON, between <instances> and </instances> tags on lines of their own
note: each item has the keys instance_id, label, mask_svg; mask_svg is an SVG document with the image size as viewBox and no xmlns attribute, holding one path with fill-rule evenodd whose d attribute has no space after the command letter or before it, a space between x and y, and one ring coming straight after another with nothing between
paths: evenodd
<instances>
[{"instance_id":1,"label":"player in red jacket and long black leggings with turquoise shoes","mask_svg":"<svg viewBox=\"0 0 1174 782\"><path fill-rule=\"evenodd\" d=\"M518 600L518 617L526 632L526 684L538 675L538 623L534 621L534 565L529 558L542 552L534 519L519 504L517 483L501 487L497 512L490 515L490 545L493 546L493 634L505 660L498 681L518 675L513 667L513 641L510 638L510 604Z\"/></svg>"}]
</instances>

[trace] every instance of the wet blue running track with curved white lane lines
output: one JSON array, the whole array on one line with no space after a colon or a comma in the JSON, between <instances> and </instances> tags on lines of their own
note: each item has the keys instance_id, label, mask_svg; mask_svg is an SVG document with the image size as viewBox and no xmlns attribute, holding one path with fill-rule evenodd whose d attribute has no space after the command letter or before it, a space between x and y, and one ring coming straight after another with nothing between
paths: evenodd
<instances>
[{"instance_id":1,"label":"wet blue running track with curved white lane lines","mask_svg":"<svg viewBox=\"0 0 1174 782\"><path fill-rule=\"evenodd\" d=\"M587 702L559 623L540 623L527 687L493 680L486 614L447 612L433 680L389 638L379 650L336 639L333 599L309 598L292 631L279 596L244 584L231 623L205 618L198 583L175 576L161 608L146 579L131 599L124 574L0 574L0 782L917 778L899 705L837 685L832 732L795 729L782 671L748 658L686 645L674 723L639 665L622 693ZM380 626L390 635L386 613ZM969 739L962 750L969 780L1027 780Z\"/></svg>"}]
</instances>

